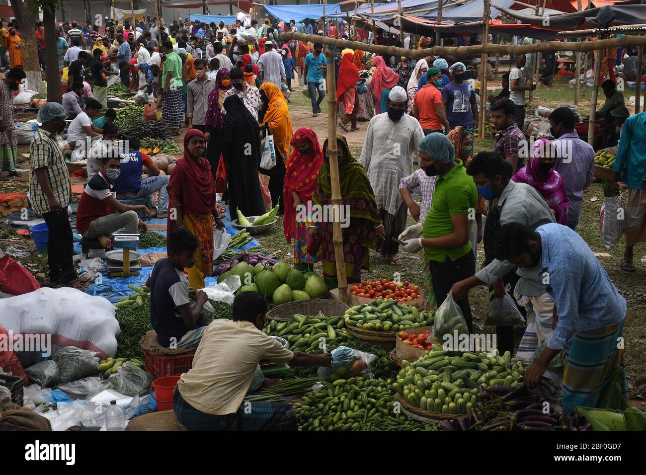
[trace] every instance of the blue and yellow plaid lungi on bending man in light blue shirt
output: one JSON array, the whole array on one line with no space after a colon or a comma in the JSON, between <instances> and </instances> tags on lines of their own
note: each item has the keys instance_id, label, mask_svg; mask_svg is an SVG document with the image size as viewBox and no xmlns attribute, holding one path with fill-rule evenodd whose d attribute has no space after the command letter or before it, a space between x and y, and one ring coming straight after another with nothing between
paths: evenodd
<instances>
[{"instance_id":1,"label":"blue and yellow plaid lungi on bending man in light blue shirt","mask_svg":"<svg viewBox=\"0 0 646 475\"><path fill-rule=\"evenodd\" d=\"M623 323L574 334L563 372L563 414L578 406L596 407L605 383L618 368L623 368L623 345L619 344ZM627 400L625 375L621 378L621 393Z\"/></svg>"}]
</instances>

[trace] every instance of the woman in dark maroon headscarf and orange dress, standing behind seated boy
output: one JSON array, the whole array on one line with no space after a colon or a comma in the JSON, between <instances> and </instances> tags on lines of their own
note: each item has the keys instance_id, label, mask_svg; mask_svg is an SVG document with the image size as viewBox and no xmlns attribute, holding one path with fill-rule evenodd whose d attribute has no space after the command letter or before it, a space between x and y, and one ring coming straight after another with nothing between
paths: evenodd
<instances>
[{"instance_id":1,"label":"woman in dark maroon headscarf and orange dress, standing behind seated boy","mask_svg":"<svg viewBox=\"0 0 646 475\"><path fill-rule=\"evenodd\" d=\"M184 136L184 156L178 160L168 184L168 224L186 227L198 240L195 265L188 269L189 286L201 289L204 277L213 275L213 222L224 229L215 209L215 182L211 165L203 158L206 149L204 134L191 129Z\"/></svg>"}]
</instances>

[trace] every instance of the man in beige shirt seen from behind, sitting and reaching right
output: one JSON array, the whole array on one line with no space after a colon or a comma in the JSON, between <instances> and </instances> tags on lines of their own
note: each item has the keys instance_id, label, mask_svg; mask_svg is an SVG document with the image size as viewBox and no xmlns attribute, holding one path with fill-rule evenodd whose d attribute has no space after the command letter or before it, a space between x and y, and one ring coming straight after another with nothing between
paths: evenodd
<instances>
[{"instance_id":1,"label":"man in beige shirt seen from behind, sitting and reaching right","mask_svg":"<svg viewBox=\"0 0 646 475\"><path fill-rule=\"evenodd\" d=\"M170 243L169 243L170 244ZM190 430L297 430L287 403L248 401L258 363L330 366L329 354L291 352L261 329L267 299L244 292L233 301L233 321L218 319L207 326L193 367L182 374L173 396L177 420ZM262 381L262 378L260 378ZM264 380L262 386L273 383Z\"/></svg>"}]
</instances>

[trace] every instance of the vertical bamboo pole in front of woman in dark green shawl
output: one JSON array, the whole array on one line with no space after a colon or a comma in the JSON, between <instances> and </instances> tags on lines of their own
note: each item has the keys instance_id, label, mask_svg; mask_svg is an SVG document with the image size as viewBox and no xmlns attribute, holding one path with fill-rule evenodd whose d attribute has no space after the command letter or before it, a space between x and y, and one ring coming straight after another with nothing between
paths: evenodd
<instances>
[{"instance_id":1,"label":"vertical bamboo pole in front of woman in dark green shawl","mask_svg":"<svg viewBox=\"0 0 646 475\"><path fill-rule=\"evenodd\" d=\"M326 87L328 89L328 159L329 179L332 185L332 206L339 210L335 213L335 220L332 227L332 244L334 245L334 260L337 265L337 283L339 287L339 298L349 305L348 279L346 279L346 260L343 255L343 235L341 233L341 222L339 220L341 209L341 191L339 182L339 161L337 151L337 86L334 68L334 52L331 48L326 50L328 68L326 73Z\"/></svg>"}]
</instances>

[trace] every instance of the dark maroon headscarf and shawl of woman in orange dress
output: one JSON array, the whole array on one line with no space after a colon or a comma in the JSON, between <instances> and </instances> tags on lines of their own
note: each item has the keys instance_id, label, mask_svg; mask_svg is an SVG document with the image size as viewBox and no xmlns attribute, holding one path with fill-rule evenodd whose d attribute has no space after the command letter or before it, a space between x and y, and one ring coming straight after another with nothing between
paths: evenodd
<instances>
[{"instance_id":1,"label":"dark maroon headscarf and shawl of woman in orange dress","mask_svg":"<svg viewBox=\"0 0 646 475\"><path fill-rule=\"evenodd\" d=\"M211 165L204 157L194 158L189 154L187 143L193 136L204 138L202 131L191 129L184 136L184 156L172 169L169 188L182 190L182 205L194 213L211 213L215 209L215 181ZM170 212L170 211L169 211ZM175 220L168 220L167 231L172 231Z\"/></svg>"}]
</instances>

